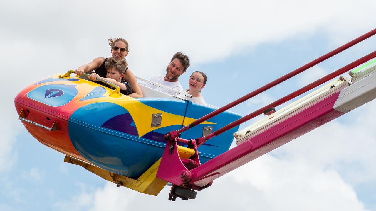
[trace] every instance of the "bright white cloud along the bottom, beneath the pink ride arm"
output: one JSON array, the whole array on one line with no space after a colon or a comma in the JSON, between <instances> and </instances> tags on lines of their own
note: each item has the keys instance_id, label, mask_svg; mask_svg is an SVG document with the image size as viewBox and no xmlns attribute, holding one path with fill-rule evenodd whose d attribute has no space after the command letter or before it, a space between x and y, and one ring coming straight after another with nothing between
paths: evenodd
<instances>
[{"instance_id":1,"label":"bright white cloud along the bottom, beneath the pink ride arm","mask_svg":"<svg viewBox=\"0 0 376 211\"><path fill-rule=\"evenodd\" d=\"M312 168L308 160L280 160L270 154L214 181L194 200L167 200L170 187L158 196L117 188L108 182L92 193L80 193L64 206L72 210L365 210L353 188L334 170ZM77 204L78 199L85 198ZM83 205L83 202L86 202ZM81 208L81 209L80 209Z\"/></svg>"}]
</instances>

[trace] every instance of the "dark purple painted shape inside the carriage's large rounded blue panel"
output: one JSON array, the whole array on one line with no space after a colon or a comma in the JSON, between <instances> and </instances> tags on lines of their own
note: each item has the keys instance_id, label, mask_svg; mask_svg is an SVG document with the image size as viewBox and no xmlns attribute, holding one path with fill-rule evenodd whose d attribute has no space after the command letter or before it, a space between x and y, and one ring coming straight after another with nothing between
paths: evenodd
<instances>
[{"instance_id":1,"label":"dark purple painted shape inside the carriage's large rounded blue panel","mask_svg":"<svg viewBox=\"0 0 376 211\"><path fill-rule=\"evenodd\" d=\"M138 136L137 128L130 125L132 122L132 116L129 113L124 113L107 120L101 127Z\"/></svg>"}]
</instances>

